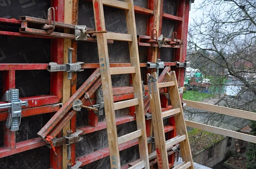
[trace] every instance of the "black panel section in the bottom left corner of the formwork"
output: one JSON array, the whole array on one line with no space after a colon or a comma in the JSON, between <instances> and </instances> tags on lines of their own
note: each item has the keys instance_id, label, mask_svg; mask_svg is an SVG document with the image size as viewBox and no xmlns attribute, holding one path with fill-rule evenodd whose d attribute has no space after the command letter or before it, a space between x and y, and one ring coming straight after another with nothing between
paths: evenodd
<instances>
[{"instance_id":1,"label":"black panel section in the bottom left corner of the formwork","mask_svg":"<svg viewBox=\"0 0 256 169\"><path fill-rule=\"evenodd\" d=\"M48 169L49 167L50 149L47 146L0 158L0 169Z\"/></svg>"}]
</instances>

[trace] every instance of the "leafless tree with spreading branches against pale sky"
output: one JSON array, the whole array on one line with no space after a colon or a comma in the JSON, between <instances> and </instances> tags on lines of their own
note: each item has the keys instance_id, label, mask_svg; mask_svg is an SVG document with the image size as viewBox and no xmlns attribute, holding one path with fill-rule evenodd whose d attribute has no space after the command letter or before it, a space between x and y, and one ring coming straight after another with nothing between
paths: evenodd
<instances>
[{"instance_id":1,"label":"leafless tree with spreading branches against pale sky","mask_svg":"<svg viewBox=\"0 0 256 169\"><path fill-rule=\"evenodd\" d=\"M224 82L234 77L241 83L228 107L254 111L256 101L256 1L205 0L203 14L189 26L188 58L192 67L210 76L223 96ZM216 94L216 90L214 91Z\"/></svg>"}]
</instances>

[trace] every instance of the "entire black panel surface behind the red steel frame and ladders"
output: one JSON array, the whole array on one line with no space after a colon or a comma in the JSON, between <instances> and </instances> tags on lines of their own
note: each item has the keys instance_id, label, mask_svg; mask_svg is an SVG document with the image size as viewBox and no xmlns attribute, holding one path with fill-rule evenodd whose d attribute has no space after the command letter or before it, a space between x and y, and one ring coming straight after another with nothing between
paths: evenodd
<instances>
[{"instance_id":1,"label":"entire black panel surface behind the red steel frame and ladders","mask_svg":"<svg viewBox=\"0 0 256 169\"><path fill-rule=\"evenodd\" d=\"M134 5L147 8L148 0L134 0ZM50 0L0 0L0 17L15 18L30 16L47 19L47 9ZM164 0L163 11L168 14L176 14L176 3ZM127 33L125 11L104 6L105 23L108 31ZM148 16L135 14L138 35L146 35ZM87 25L94 28L92 2L79 0L79 25ZM175 23L163 20L162 34L171 37L175 30ZM12 29L12 30L10 30ZM0 31L19 32L19 28L9 27L8 24L0 24ZM147 61L147 47L139 46L140 62ZM173 61L172 48L160 48L164 62ZM110 62L130 62L128 42L114 41L108 45ZM85 63L99 63L97 44L93 42L78 41L77 60ZM0 63L49 63L50 39L8 37L0 36ZM93 70L77 73L77 87L90 76ZM141 68L142 79L145 79L145 68ZM16 88L20 89L20 97L47 95L50 93L50 73L47 70L21 70L16 71ZM129 75L111 76L113 87L129 86ZM3 96L3 78L0 71L0 98ZM128 115L128 108L116 110L116 118ZM50 115L35 115L21 119L20 130L16 132L16 142L36 138L37 132L49 121ZM76 126L88 125L87 110L77 113ZM99 117L99 122L105 121L105 115ZM0 146L3 146L3 125L0 122ZM137 130L136 121L117 126L118 136L122 136ZM76 157L88 155L94 151L108 147L106 130L100 130L83 136L83 140L76 144ZM48 169L50 167L50 153L47 146L31 149L0 159L0 169ZM120 152L122 165L140 158L138 146L125 149ZM110 168L109 157L90 163L83 169L107 169Z\"/></svg>"}]
</instances>

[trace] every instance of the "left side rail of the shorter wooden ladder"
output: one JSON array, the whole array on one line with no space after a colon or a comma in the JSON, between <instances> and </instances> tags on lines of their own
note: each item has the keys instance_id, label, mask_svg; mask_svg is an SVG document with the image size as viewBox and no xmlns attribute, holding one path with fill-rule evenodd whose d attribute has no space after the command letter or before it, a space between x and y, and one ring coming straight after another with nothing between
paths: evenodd
<instances>
[{"instance_id":1,"label":"left side rail of the shorter wooden ladder","mask_svg":"<svg viewBox=\"0 0 256 169\"><path fill-rule=\"evenodd\" d=\"M149 78L150 74L147 74L147 79ZM157 79L157 73L153 73L154 78ZM158 83L154 82L156 87L158 88ZM163 118L162 118L162 109L160 103L160 94L159 90L154 92L154 85L151 83L150 85L152 93L149 96L150 99L150 107L151 107L151 115L152 115L152 123L154 128L154 140L155 140L155 147L157 151L157 165L158 168L161 169L169 169L169 162L168 162L168 155L166 149L166 139L165 139L165 132L163 128Z\"/></svg>"}]
</instances>

